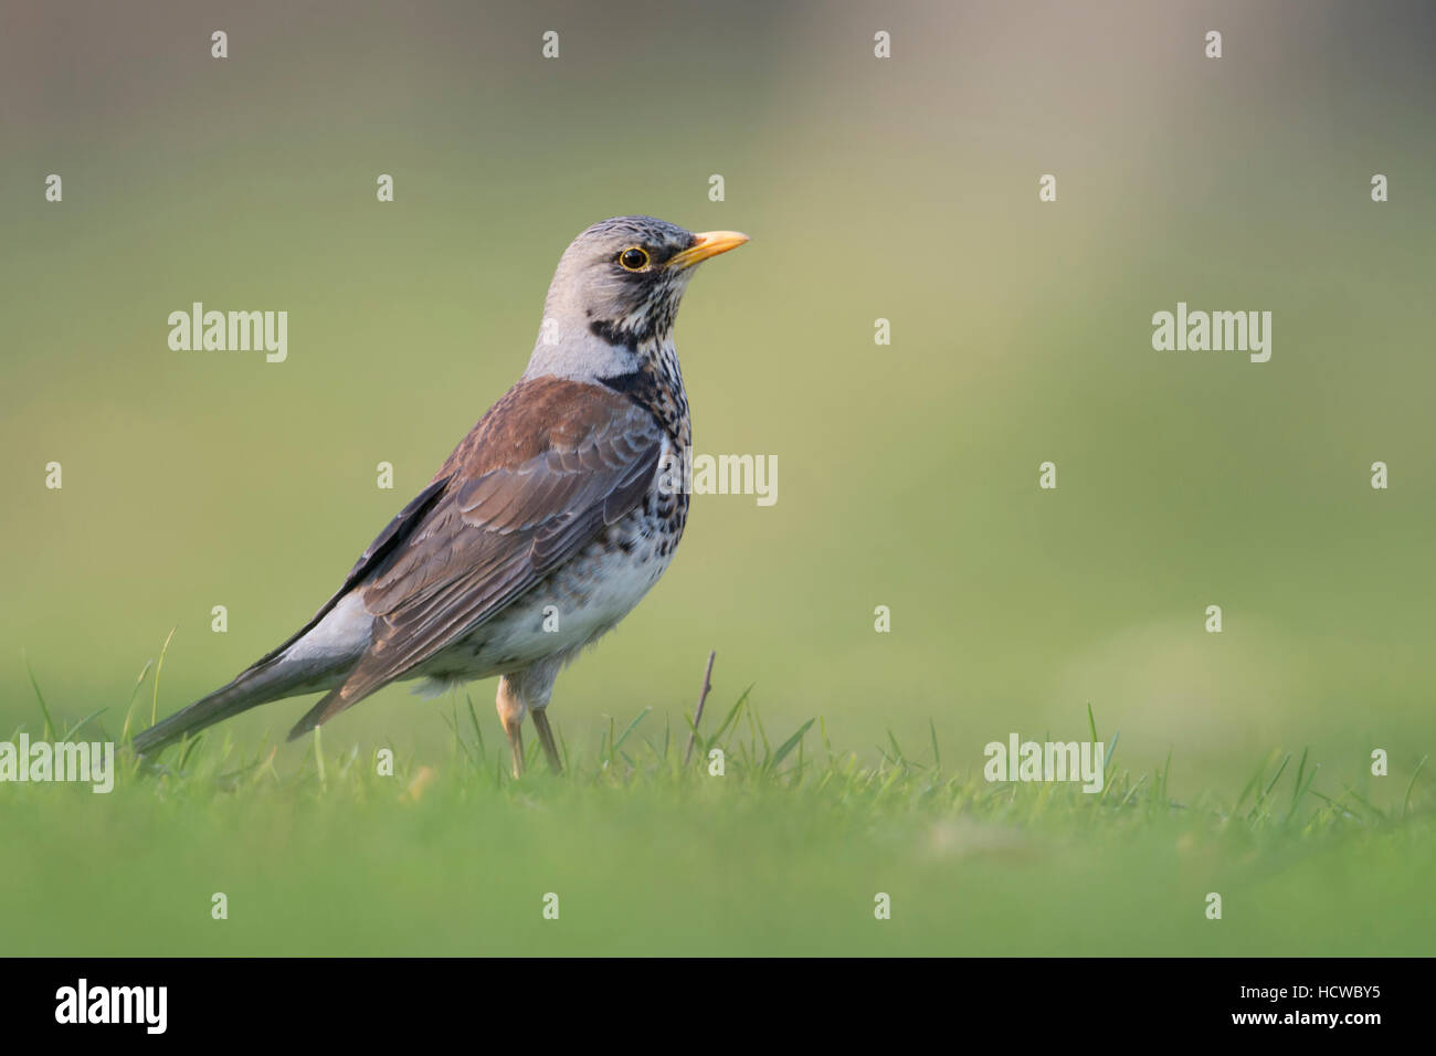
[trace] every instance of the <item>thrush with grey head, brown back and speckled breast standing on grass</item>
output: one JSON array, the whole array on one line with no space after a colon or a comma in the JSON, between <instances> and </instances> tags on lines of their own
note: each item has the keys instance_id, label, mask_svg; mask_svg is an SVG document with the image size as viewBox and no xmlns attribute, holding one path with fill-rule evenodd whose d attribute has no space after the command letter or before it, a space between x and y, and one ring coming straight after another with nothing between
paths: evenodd
<instances>
[{"instance_id":1,"label":"thrush with grey head, brown back and speckled breast standing on grass","mask_svg":"<svg viewBox=\"0 0 1436 1056\"><path fill-rule=\"evenodd\" d=\"M498 675L514 777L569 661L658 582L688 519L688 395L673 343L694 269L748 241L648 216L603 220L563 251L518 381L389 522L335 595L228 684L138 733L154 756L260 704L323 693L296 740L383 685Z\"/></svg>"}]
</instances>

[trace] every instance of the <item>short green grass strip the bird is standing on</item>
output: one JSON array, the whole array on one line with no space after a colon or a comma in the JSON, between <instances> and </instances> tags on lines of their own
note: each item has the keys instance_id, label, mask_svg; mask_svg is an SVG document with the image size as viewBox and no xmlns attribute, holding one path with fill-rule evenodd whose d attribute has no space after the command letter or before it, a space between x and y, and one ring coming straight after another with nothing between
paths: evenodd
<instances>
[{"instance_id":1,"label":"short green grass strip the bird is standing on","mask_svg":"<svg viewBox=\"0 0 1436 1056\"><path fill-rule=\"evenodd\" d=\"M149 667L136 680L126 710ZM157 670L158 677L158 670ZM36 687L37 698L43 700ZM50 728L52 710L45 721ZM640 710L547 773L508 774L497 720L439 705L441 757L237 744L225 728L111 795L11 784L0 945L14 954L1417 954L1433 914L1432 782L1333 786L1305 751L1235 796L1173 760L989 783L890 733L872 759L821 718L770 736L751 691L695 733ZM1097 738L1091 708L1087 726ZM65 737L103 737L96 713ZM327 734L343 737L342 727ZM342 743L342 741L340 741ZM722 774L711 773L721 751ZM385 756L383 753L391 753ZM976 753L964 753L976 754ZM392 767L388 761L392 760ZM1425 761L1425 760L1423 760ZM1387 779L1390 780L1390 779ZM1377 782L1379 784L1379 782ZM1208 892L1223 917L1205 917ZM227 918L211 915L223 892ZM875 918L879 892L892 917ZM559 897L559 920L543 917Z\"/></svg>"}]
</instances>

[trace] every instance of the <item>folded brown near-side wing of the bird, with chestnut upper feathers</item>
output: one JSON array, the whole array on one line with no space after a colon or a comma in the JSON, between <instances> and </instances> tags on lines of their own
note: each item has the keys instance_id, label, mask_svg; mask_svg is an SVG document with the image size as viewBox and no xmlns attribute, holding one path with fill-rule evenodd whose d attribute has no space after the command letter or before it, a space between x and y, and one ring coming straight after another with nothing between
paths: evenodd
<instances>
[{"instance_id":1,"label":"folded brown near-side wing of the bird, with chestnut upper feathers","mask_svg":"<svg viewBox=\"0 0 1436 1056\"><path fill-rule=\"evenodd\" d=\"M633 510L662 445L653 415L605 386L511 388L435 474L419 523L355 588L373 639L290 738L434 657Z\"/></svg>"}]
</instances>

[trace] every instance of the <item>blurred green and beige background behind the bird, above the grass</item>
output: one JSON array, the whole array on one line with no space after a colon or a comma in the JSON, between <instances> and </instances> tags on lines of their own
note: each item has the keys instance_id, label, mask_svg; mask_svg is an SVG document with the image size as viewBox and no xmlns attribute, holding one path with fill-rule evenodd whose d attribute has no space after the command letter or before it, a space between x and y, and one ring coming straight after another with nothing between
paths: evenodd
<instances>
[{"instance_id":1,"label":"blurred green and beige background behind the bird, above the grass","mask_svg":"<svg viewBox=\"0 0 1436 1056\"><path fill-rule=\"evenodd\" d=\"M570 744L645 705L676 723L717 649L715 700L751 684L770 728L821 714L873 756L931 720L976 767L1014 730L1080 736L1091 701L1127 764L1172 750L1178 796L1272 747L1353 782L1386 747L1409 774L1436 688L1433 24L9 0L0 728L36 720L22 651L53 710L119 713L177 628L165 714L287 636L523 371L569 240L651 213L752 236L698 276L678 343L698 450L775 454L778 501L695 497L666 578L560 678ZM172 352L192 300L287 310L289 361ZM1155 352L1179 300L1271 310L1271 362ZM448 738L404 685L326 727Z\"/></svg>"}]
</instances>

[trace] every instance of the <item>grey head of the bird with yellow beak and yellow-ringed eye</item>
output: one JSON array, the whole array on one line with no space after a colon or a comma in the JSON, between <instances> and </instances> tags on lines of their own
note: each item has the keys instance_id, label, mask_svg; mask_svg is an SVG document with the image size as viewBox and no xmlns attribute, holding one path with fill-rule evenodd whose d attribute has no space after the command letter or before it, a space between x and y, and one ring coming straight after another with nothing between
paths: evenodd
<instances>
[{"instance_id":1,"label":"grey head of the bird with yellow beak and yellow-ringed eye","mask_svg":"<svg viewBox=\"0 0 1436 1056\"><path fill-rule=\"evenodd\" d=\"M672 348L694 266L745 241L737 231L694 234L653 217L593 224L559 259L526 376L629 374Z\"/></svg>"}]
</instances>

